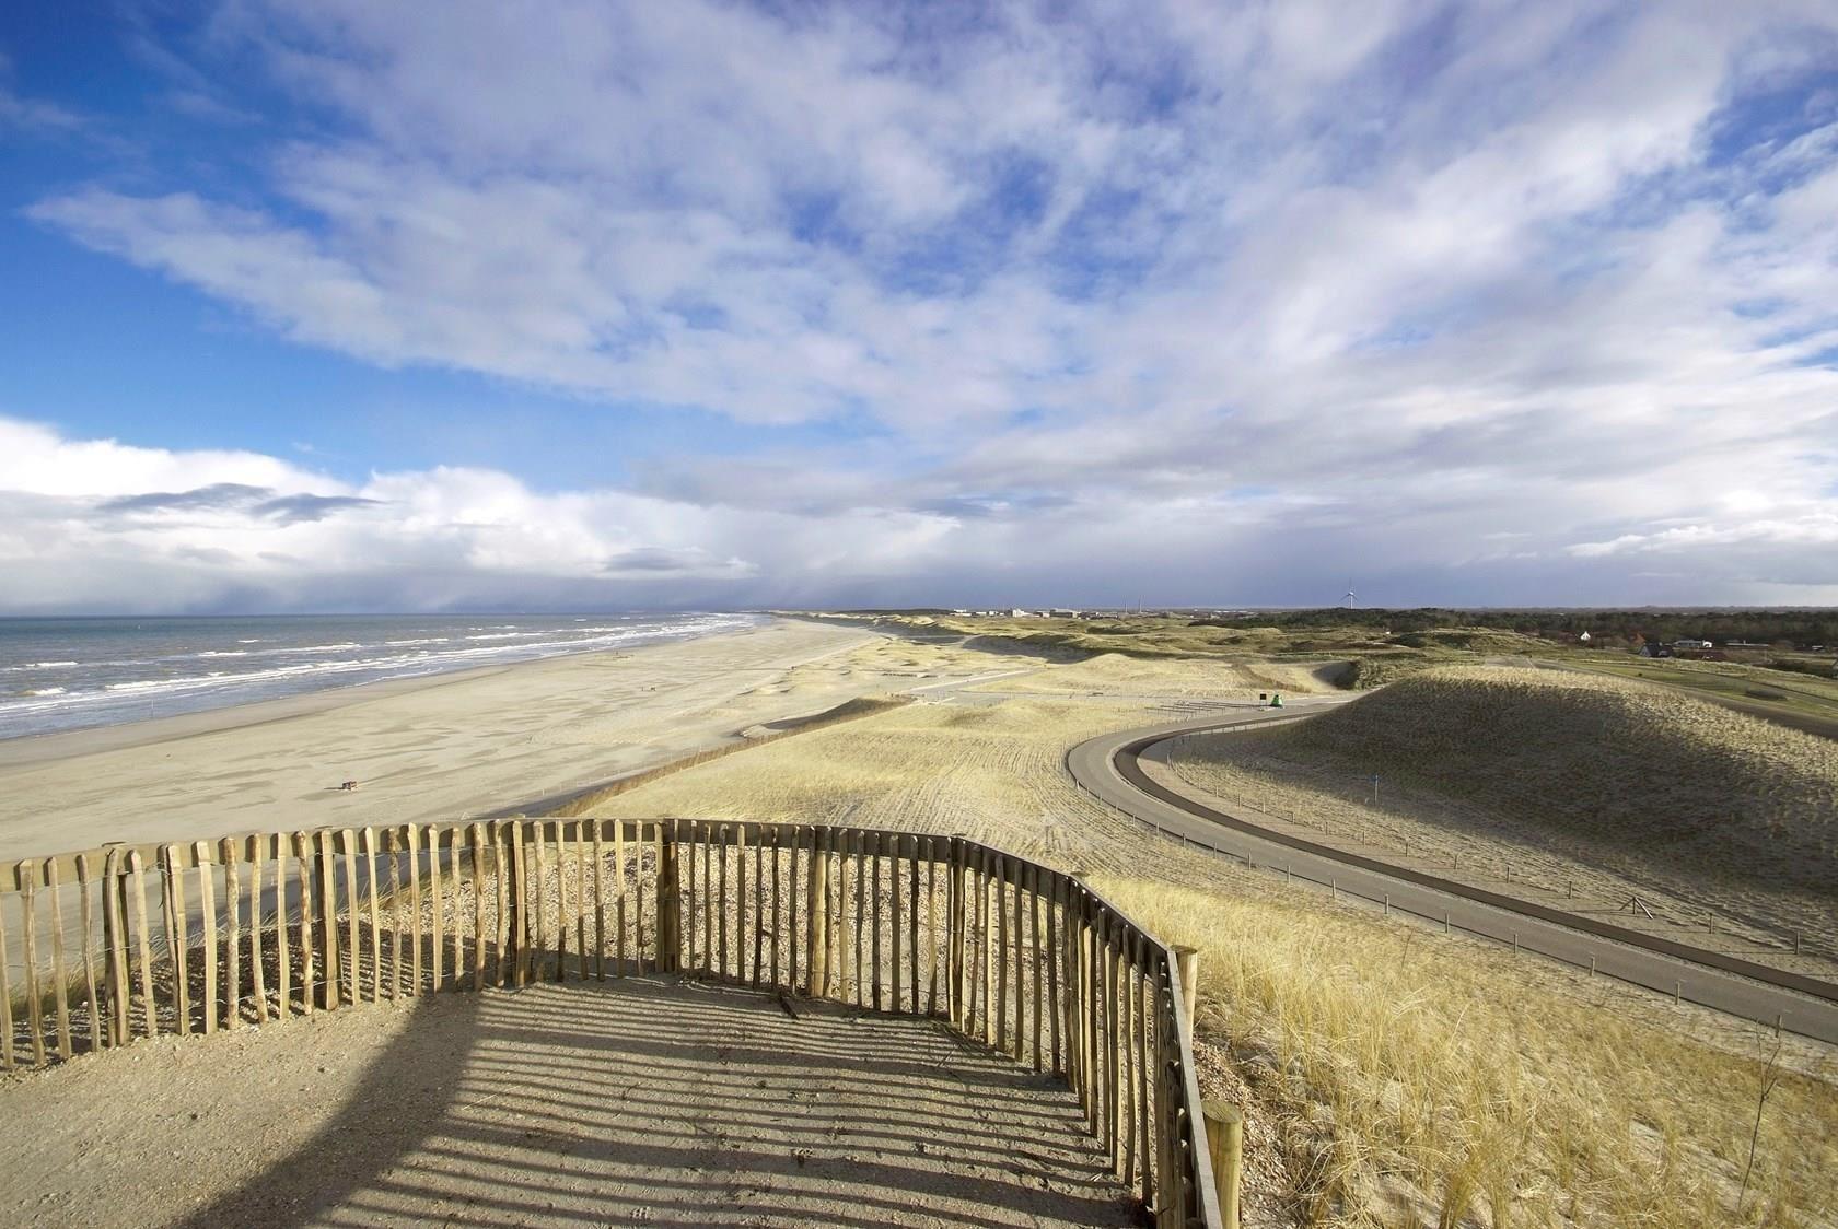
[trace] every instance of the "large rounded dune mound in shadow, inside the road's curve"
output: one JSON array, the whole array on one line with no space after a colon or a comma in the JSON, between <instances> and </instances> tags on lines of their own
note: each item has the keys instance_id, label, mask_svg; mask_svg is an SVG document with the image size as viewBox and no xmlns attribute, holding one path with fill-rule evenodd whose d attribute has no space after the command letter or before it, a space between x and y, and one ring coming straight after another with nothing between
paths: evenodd
<instances>
[{"instance_id":1,"label":"large rounded dune mound in shadow, inside the road's curve","mask_svg":"<svg viewBox=\"0 0 1838 1229\"><path fill-rule=\"evenodd\" d=\"M1336 843L1693 942L1746 931L1770 963L1831 972L1812 948L1838 941L1838 744L1676 691L1450 667L1307 722L1186 737L1169 762Z\"/></svg>"}]
</instances>

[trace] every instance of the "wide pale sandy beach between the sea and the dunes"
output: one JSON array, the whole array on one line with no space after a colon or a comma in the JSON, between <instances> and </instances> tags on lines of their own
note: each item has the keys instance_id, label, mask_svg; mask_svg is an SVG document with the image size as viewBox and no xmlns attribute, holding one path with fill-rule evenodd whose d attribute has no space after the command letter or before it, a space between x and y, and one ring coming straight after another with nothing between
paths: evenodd
<instances>
[{"instance_id":1,"label":"wide pale sandy beach between the sea and the dunes","mask_svg":"<svg viewBox=\"0 0 1838 1229\"><path fill-rule=\"evenodd\" d=\"M915 680L880 637L774 621L0 742L0 860L103 841L537 812L614 777ZM355 792L340 783L358 781Z\"/></svg>"}]
</instances>

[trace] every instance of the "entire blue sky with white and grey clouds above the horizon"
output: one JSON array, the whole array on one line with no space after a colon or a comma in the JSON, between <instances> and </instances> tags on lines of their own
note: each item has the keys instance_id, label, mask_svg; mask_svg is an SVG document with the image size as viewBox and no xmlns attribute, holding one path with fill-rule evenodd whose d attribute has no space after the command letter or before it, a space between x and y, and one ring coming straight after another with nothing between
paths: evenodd
<instances>
[{"instance_id":1,"label":"entire blue sky with white and grey clouds above the horizon","mask_svg":"<svg viewBox=\"0 0 1838 1229\"><path fill-rule=\"evenodd\" d=\"M0 6L0 614L1838 603L1838 6Z\"/></svg>"}]
</instances>

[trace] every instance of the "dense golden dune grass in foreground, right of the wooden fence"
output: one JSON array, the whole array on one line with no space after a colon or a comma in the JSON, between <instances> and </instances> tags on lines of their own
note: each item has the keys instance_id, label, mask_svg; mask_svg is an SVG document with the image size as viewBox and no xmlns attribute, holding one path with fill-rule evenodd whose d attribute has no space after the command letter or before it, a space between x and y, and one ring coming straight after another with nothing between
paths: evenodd
<instances>
[{"instance_id":1,"label":"dense golden dune grass in foreground, right of the wooden fence","mask_svg":"<svg viewBox=\"0 0 1838 1229\"><path fill-rule=\"evenodd\" d=\"M1491 953L1408 924L1094 882L1167 942L1200 948L1198 1036L1252 1073L1263 1111L1283 1115L1301 1223L1838 1216L1838 1071L1770 1064L1766 1031L1737 1056L1535 988Z\"/></svg>"}]
</instances>

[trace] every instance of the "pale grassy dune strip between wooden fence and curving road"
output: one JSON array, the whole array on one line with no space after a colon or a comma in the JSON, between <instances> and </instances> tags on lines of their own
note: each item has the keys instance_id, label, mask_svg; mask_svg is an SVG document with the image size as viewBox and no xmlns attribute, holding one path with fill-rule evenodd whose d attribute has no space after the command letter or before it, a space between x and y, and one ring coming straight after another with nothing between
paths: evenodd
<instances>
[{"instance_id":1,"label":"pale grassy dune strip between wooden fence and curving road","mask_svg":"<svg viewBox=\"0 0 1838 1229\"><path fill-rule=\"evenodd\" d=\"M928 669L934 650L901 652ZM1027 676L1040 694L919 702L755 746L594 810L965 832L1097 871L1125 909L1204 952L1202 1077L1254 1121L1248 1223L1838 1227L1827 1049L1787 1038L1770 1066L1764 1031L1145 836L1073 786L1066 750L1165 716L1125 696L1242 680L1217 663L1090 665Z\"/></svg>"}]
</instances>

